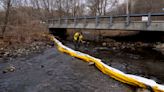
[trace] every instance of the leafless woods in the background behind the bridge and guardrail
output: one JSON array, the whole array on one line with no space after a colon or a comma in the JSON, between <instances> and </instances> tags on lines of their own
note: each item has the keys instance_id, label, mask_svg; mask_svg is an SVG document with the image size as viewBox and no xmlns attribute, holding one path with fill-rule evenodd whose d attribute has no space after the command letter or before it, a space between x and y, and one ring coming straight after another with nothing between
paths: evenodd
<instances>
[{"instance_id":1,"label":"leafless woods in the background behind the bridge and guardrail","mask_svg":"<svg viewBox=\"0 0 164 92\"><path fill-rule=\"evenodd\" d=\"M0 0L1 37L15 30L40 30L47 19L126 14L126 0ZM163 0L129 0L130 13L163 12Z\"/></svg>"}]
</instances>

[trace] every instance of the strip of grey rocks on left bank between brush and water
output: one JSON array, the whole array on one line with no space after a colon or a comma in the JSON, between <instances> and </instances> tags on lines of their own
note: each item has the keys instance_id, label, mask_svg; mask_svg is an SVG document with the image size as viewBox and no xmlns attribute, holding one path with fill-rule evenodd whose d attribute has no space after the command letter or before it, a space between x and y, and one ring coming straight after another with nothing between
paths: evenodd
<instances>
[{"instance_id":1,"label":"strip of grey rocks on left bank between brush and water","mask_svg":"<svg viewBox=\"0 0 164 92\"><path fill-rule=\"evenodd\" d=\"M0 58L27 56L31 53L41 52L50 47L50 43L42 41L32 42L31 44L8 46L6 48L0 48Z\"/></svg>"}]
</instances>

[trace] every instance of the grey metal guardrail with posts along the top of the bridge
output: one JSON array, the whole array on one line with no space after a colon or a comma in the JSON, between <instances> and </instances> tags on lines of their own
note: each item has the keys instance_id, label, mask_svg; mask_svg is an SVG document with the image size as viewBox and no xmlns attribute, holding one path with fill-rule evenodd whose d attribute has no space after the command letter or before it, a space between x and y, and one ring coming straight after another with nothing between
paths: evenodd
<instances>
[{"instance_id":1,"label":"grey metal guardrail with posts along the top of the bridge","mask_svg":"<svg viewBox=\"0 0 164 92\"><path fill-rule=\"evenodd\" d=\"M88 19L95 19L95 24L98 26L100 19L107 18L109 26L112 26L114 19L125 18L125 25L128 26L131 22L132 17L142 17L142 16L148 17L147 26L149 26L149 25L151 25L153 16L164 16L164 13L128 14L128 15L113 15L113 16L63 17L63 18L58 18L58 19L50 19L50 20L48 20L48 24L54 24L54 23L61 24L62 21L64 21L66 24L68 24L68 21L71 20L74 22L74 25L76 25L77 21L82 20L82 19L84 19L84 23L86 24Z\"/></svg>"}]
</instances>

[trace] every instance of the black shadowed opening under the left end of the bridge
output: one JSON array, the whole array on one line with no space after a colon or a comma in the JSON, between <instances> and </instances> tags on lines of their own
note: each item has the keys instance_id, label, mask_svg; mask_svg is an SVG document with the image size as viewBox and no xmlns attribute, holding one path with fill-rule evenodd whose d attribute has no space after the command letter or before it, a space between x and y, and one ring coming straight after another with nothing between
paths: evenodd
<instances>
[{"instance_id":1,"label":"black shadowed opening under the left end of the bridge","mask_svg":"<svg viewBox=\"0 0 164 92\"><path fill-rule=\"evenodd\" d=\"M49 28L50 34L56 36L61 40L67 39L67 29L66 28Z\"/></svg>"}]
</instances>

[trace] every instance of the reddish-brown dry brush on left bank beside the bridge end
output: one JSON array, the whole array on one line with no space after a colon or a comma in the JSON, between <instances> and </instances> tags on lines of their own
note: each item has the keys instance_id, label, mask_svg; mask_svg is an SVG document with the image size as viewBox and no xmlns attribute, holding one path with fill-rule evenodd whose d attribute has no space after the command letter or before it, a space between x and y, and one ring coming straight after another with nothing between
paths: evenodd
<instances>
[{"instance_id":1,"label":"reddish-brown dry brush on left bank beside the bridge end","mask_svg":"<svg viewBox=\"0 0 164 92\"><path fill-rule=\"evenodd\" d=\"M0 39L0 48L17 44L30 44L34 41L44 41L43 34L48 33L45 25L33 22L26 25L8 26L4 39Z\"/></svg>"}]
</instances>

